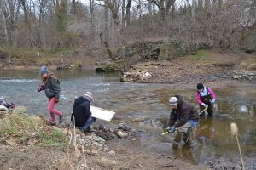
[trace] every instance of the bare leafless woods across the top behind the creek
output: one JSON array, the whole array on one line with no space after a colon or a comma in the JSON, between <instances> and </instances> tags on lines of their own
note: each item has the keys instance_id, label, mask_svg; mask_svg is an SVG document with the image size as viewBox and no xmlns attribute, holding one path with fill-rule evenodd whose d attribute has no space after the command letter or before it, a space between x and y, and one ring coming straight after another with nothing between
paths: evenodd
<instances>
[{"instance_id":1,"label":"bare leafless woods across the top behind the creek","mask_svg":"<svg viewBox=\"0 0 256 170\"><path fill-rule=\"evenodd\" d=\"M0 44L9 48L117 48L158 38L256 48L256 0L0 0L0 11Z\"/></svg>"}]
</instances>

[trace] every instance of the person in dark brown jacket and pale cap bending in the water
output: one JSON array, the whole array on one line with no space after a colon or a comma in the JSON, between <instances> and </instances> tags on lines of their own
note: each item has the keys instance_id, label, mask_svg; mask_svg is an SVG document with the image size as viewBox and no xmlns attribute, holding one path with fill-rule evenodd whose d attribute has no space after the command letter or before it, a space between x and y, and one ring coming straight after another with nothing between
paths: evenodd
<instances>
[{"instance_id":1,"label":"person in dark brown jacket and pale cap bending in the water","mask_svg":"<svg viewBox=\"0 0 256 170\"><path fill-rule=\"evenodd\" d=\"M177 148L182 138L185 143L189 142L193 128L199 121L199 114L195 106L184 101L180 95L170 98L169 104L172 106L172 111L167 131L169 133L177 131L172 145L174 148Z\"/></svg>"}]
</instances>

